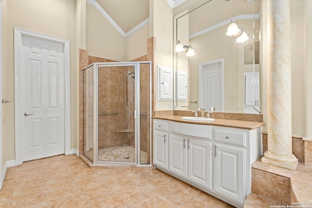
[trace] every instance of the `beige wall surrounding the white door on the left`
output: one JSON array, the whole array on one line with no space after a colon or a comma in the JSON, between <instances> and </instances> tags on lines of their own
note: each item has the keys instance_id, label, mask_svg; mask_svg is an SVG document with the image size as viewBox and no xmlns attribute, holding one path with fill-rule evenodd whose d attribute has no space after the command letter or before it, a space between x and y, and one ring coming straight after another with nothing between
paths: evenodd
<instances>
[{"instance_id":1,"label":"beige wall surrounding the white door on the left","mask_svg":"<svg viewBox=\"0 0 312 208\"><path fill-rule=\"evenodd\" d=\"M71 148L76 147L76 0L3 1L3 96L12 102L3 106L2 164L15 159L14 121L14 27L70 40L71 58Z\"/></svg>"}]
</instances>

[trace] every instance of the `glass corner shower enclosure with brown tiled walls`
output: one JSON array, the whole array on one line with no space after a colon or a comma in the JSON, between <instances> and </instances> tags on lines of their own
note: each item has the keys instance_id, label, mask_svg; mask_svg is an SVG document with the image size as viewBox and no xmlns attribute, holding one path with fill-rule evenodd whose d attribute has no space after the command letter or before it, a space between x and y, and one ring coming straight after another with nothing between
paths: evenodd
<instances>
[{"instance_id":1,"label":"glass corner shower enclosure with brown tiled walls","mask_svg":"<svg viewBox=\"0 0 312 208\"><path fill-rule=\"evenodd\" d=\"M95 165L151 164L151 62L83 70L83 155Z\"/></svg>"}]
</instances>

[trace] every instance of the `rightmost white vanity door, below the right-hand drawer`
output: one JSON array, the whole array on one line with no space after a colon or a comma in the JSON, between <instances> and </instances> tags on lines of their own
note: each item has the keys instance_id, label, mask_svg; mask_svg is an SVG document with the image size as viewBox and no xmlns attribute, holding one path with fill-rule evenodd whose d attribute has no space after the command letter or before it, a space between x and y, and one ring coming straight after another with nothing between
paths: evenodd
<instances>
[{"instance_id":1,"label":"rightmost white vanity door, below the right-hand drawer","mask_svg":"<svg viewBox=\"0 0 312 208\"><path fill-rule=\"evenodd\" d=\"M244 149L215 144L214 189L241 203L246 195L244 158Z\"/></svg>"}]
</instances>

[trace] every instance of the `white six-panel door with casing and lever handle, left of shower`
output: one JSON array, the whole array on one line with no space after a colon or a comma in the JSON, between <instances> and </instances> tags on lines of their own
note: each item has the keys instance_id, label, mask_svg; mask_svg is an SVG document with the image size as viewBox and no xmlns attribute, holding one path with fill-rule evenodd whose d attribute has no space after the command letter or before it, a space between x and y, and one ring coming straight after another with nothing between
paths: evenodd
<instances>
[{"instance_id":1,"label":"white six-panel door with casing and lever handle, left of shower","mask_svg":"<svg viewBox=\"0 0 312 208\"><path fill-rule=\"evenodd\" d=\"M69 40L15 28L16 165L70 154L69 61Z\"/></svg>"}]
</instances>

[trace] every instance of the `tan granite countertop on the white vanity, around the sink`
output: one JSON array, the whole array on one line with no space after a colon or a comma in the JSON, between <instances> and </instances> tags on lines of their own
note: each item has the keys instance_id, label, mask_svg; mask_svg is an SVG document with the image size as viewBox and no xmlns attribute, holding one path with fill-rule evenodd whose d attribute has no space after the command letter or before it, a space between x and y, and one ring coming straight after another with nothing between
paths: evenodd
<instances>
[{"instance_id":1,"label":"tan granite countertop on the white vanity, around the sink","mask_svg":"<svg viewBox=\"0 0 312 208\"><path fill-rule=\"evenodd\" d=\"M224 126L224 127L232 127L239 129L256 129L260 126L263 126L265 123L263 122L255 122L255 121L241 121L241 120L230 120L230 119L221 119L215 118L215 121L205 122L205 121L190 121L182 119L181 115L156 115L152 118L164 119L170 121L176 121L181 123L189 123L189 124L202 124L202 125L211 125L211 126Z\"/></svg>"}]
</instances>

